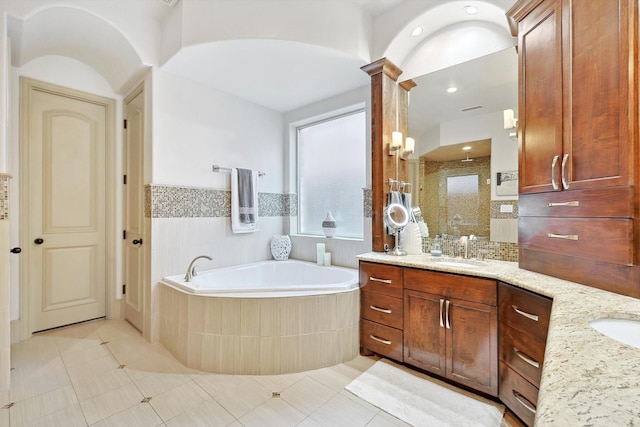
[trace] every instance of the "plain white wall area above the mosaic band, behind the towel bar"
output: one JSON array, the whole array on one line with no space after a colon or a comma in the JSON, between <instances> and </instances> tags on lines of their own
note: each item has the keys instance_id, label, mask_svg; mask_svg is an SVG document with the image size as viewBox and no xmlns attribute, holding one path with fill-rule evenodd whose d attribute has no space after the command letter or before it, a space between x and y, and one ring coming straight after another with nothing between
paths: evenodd
<instances>
[{"instance_id":1,"label":"plain white wall area above the mosaic band, behind the towel bar","mask_svg":"<svg viewBox=\"0 0 640 427\"><path fill-rule=\"evenodd\" d=\"M282 193L282 114L155 70L153 117L154 184L229 189L219 164L265 172L259 191Z\"/></svg>"}]
</instances>

